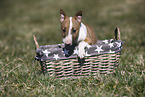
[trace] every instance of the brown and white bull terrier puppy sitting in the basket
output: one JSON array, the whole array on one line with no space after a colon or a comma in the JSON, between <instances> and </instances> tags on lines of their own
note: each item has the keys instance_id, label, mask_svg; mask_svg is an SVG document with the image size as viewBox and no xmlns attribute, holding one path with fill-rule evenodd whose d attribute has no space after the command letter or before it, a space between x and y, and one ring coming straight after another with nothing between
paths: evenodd
<instances>
[{"instance_id":1,"label":"brown and white bull terrier puppy sitting in the basket","mask_svg":"<svg viewBox=\"0 0 145 97\"><path fill-rule=\"evenodd\" d=\"M61 9L61 34L65 45L78 45L78 56L85 56L85 47L97 43L95 32L82 23L82 11L76 13L75 17L67 17Z\"/></svg>"}]
</instances>

